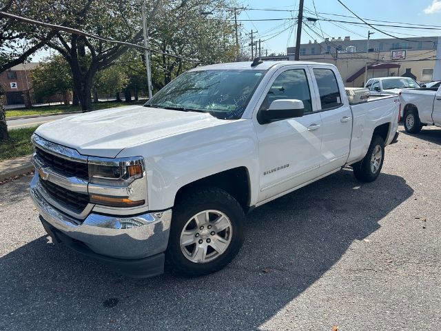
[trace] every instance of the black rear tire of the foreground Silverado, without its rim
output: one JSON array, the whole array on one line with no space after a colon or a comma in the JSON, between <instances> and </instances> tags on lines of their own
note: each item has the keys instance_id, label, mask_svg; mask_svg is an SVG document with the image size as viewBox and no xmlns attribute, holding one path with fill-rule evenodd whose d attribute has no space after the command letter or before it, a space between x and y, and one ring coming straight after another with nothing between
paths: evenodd
<instances>
[{"instance_id":1,"label":"black rear tire of the foreground Silverado, without its rim","mask_svg":"<svg viewBox=\"0 0 441 331\"><path fill-rule=\"evenodd\" d=\"M371 167L371 158L374 154L374 151L378 150L377 149L378 147L380 147L381 150L381 160L378 169L376 171L373 171ZM366 183L375 181L381 172L383 161L384 161L384 141L382 137L373 136L371 145L367 150L365 158L352 165L353 174L355 175L356 179L358 179L359 181L363 181Z\"/></svg>"}]
</instances>

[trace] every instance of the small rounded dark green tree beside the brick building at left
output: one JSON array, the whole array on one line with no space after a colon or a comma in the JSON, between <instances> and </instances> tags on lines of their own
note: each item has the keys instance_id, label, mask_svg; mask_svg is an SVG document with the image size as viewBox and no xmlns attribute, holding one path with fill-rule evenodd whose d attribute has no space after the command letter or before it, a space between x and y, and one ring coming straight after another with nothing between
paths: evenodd
<instances>
[{"instance_id":1,"label":"small rounded dark green tree beside the brick building at left","mask_svg":"<svg viewBox=\"0 0 441 331\"><path fill-rule=\"evenodd\" d=\"M54 94L62 94L64 103L68 104L67 94L72 90L72 73L69 64L61 55L45 59L31 72L34 98L47 99Z\"/></svg>"}]
</instances>

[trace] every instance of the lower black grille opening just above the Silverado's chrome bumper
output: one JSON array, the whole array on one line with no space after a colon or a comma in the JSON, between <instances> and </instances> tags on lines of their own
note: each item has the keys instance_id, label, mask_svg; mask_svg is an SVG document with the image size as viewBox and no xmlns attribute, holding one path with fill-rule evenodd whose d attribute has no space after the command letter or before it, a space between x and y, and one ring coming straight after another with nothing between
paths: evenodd
<instances>
[{"instance_id":1,"label":"lower black grille opening just above the Silverado's chrome bumper","mask_svg":"<svg viewBox=\"0 0 441 331\"><path fill-rule=\"evenodd\" d=\"M43 179L40 179L40 184L52 199L69 210L72 210L72 212L76 212L76 214L81 214L89 203L88 194L72 192L50 181L44 181Z\"/></svg>"}]
</instances>

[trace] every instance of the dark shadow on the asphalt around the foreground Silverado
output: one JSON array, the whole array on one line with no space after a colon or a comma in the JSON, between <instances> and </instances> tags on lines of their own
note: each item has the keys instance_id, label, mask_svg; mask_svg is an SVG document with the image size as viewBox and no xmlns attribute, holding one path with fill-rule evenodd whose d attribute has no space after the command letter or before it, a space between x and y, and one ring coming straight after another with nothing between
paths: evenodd
<instances>
[{"instance_id":1,"label":"dark shadow on the asphalt around the foreground Silverado","mask_svg":"<svg viewBox=\"0 0 441 331\"><path fill-rule=\"evenodd\" d=\"M0 259L0 328L256 330L412 194L402 177L360 185L342 170L254 210L234 262L198 279L127 279L41 237Z\"/></svg>"}]
</instances>

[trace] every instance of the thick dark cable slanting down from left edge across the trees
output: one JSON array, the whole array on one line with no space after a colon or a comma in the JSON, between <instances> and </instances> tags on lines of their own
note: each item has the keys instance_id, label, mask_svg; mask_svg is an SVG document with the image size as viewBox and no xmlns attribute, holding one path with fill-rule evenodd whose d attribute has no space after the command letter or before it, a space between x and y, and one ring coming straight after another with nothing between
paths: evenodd
<instances>
[{"instance_id":1,"label":"thick dark cable slanting down from left edge across the trees","mask_svg":"<svg viewBox=\"0 0 441 331\"><path fill-rule=\"evenodd\" d=\"M32 24L34 26L43 26L45 28L50 28L51 30L63 31L63 32L68 32L68 33L72 33L72 34L78 34L79 36L89 37L89 38L93 38L93 39L98 39L98 40L101 40L101 41L105 41L107 43L117 43L119 45L129 46L129 47L133 47L133 48L139 48L141 50L149 50L150 52L153 52L153 53L156 53L156 54L163 54L163 55L166 55L167 57L173 57L175 59L182 59L182 60L185 60L185 61L201 63L201 61L197 61L197 60L194 60L194 59L188 59L186 57L181 57L179 55L174 55L174 54L169 54L169 53L161 52L160 50L154 50L154 49L149 48L149 47L145 47L145 46L141 46L141 45L136 45L135 43L127 43L126 41L118 41L118 40L103 38L103 37L99 37L99 36L96 36L94 34L90 34L88 32L83 32L81 30L77 30L77 29L74 29L74 28L69 28L69 27L66 27L66 26L57 26L56 24L44 23L44 22L41 22L41 21L36 21L34 19L28 19L27 17L21 17L21 16L18 16L18 15L10 14L8 12L0 12L0 17L7 17L9 19L17 19L18 21L23 21L23 22L26 22L26 23L30 23L30 24Z\"/></svg>"}]
</instances>

